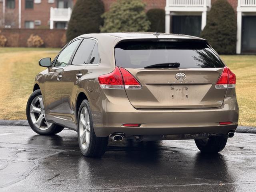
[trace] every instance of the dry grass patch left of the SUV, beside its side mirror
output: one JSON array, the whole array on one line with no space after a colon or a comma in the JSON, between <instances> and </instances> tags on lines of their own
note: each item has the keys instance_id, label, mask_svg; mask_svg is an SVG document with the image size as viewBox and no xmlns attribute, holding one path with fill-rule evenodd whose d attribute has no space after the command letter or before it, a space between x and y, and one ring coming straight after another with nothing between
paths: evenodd
<instances>
[{"instance_id":1,"label":"dry grass patch left of the SUV, beside its side mirror","mask_svg":"<svg viewBox=\"0 0 256 192\"><path fill-rule=\"evenodd\" d=\"M26 119L26 102L34 78L45 69L38 60L54 58L57 53L46 48L0 48L0 119Z\"/></svg>"}]
</instances>

